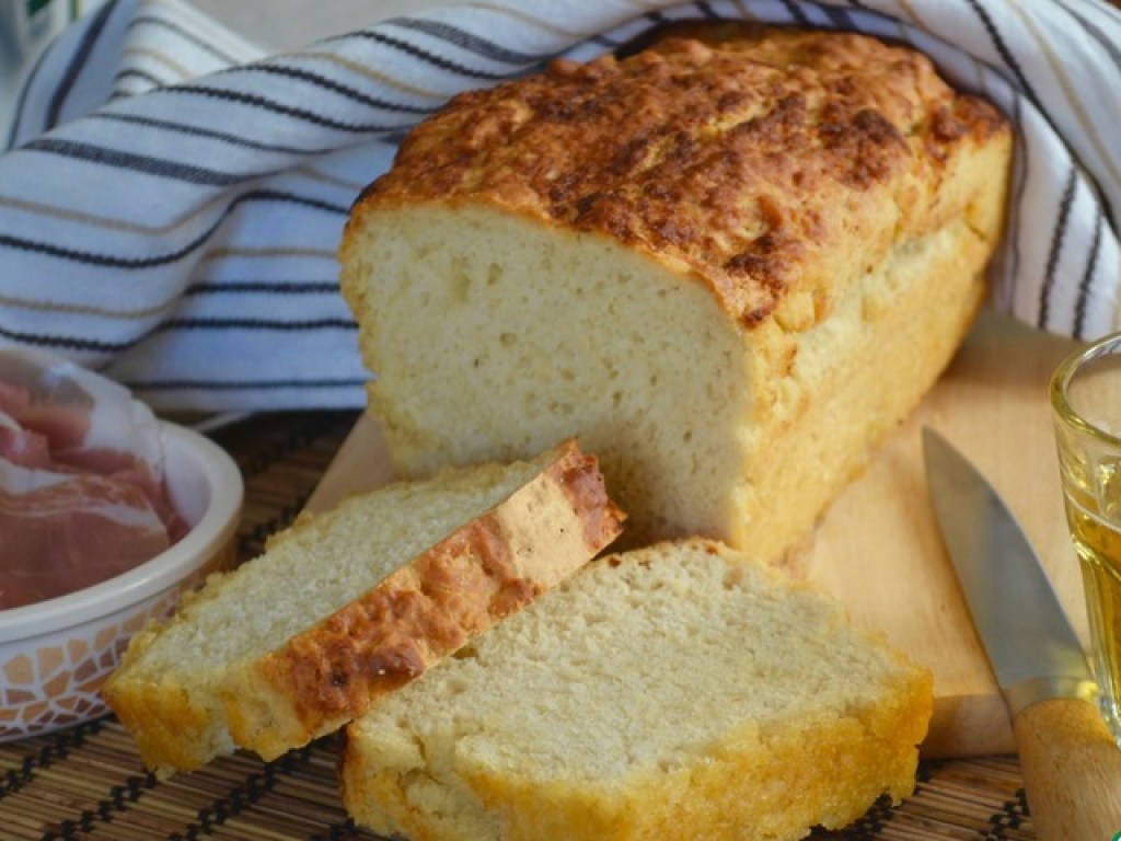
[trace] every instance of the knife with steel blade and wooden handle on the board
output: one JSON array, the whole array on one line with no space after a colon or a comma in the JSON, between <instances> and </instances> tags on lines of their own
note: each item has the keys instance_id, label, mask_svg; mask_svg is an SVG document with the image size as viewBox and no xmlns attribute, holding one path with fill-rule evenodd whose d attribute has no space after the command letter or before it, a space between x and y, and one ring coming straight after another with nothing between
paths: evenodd
<instances>
[{"instance_id":1,"label":"knife with steel blade and wooden handle on the board","mask_svg":"<svg viewBox=\"0 0 1121 841\"><path fill-rule=\"evenodd\" d=\"M923 451L943 540L1012 720L1038 838L1121 837L1121 750L1039 560L965 456L929 428Z\"/></svg>"}]
</instances>

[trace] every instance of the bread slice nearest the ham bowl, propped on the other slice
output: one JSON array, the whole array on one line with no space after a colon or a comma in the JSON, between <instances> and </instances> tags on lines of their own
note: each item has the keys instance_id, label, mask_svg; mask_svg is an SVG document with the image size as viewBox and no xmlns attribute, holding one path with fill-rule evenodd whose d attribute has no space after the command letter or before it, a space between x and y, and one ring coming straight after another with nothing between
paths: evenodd
<instances>
[{"instance_id":1,"label":"bread slice nearest the ham bowl, propped on the other slice","mask_svg":"<svg viewBox=\"0 0 1121 841\"><path fill-rule=\"evenodd\" d=\"M574 441L353 497L138 635L105 700L161 774L235 746L271 759L531 602L621 519Z\"/></svg>"}]
</instances>

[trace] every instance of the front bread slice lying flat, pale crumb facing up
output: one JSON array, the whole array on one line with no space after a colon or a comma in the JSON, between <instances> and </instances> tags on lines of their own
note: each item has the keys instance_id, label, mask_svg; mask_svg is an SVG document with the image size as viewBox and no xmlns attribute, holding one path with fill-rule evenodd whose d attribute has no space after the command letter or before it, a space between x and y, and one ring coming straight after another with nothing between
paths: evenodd
<instances>
[{"instance_id":1,"label":"front bread slice lying flat, pale crumb facing up","mask_svg":"<svg viewBox=\"0 0 1121 841\"><path fill-rule=\"evenodd\" d=\"M601 558L351 723L349 812L411 841L803 838L910 794L932 678L720 545Z\"/></svg>"}]
</instances>

